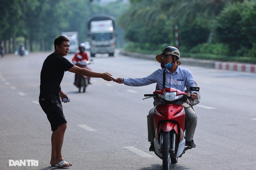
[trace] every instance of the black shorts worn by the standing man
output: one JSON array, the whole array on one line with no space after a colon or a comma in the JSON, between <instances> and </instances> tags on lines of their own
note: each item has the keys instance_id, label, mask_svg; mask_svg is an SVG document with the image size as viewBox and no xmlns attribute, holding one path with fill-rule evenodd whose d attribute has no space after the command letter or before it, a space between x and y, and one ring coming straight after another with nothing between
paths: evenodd
<instances>
[{"instance_id":1,"label":"black shorts worn by the standing man","mask_svg":"<svg viewBox=\"0 0 256 170\"><path fill-rule=\"evenodd\" d=\"M39 99L39 103L47 115L47 119L51 124L52 131L63 123L67 123L63 114L61 99Z\"/></svg>"}]
</instances>

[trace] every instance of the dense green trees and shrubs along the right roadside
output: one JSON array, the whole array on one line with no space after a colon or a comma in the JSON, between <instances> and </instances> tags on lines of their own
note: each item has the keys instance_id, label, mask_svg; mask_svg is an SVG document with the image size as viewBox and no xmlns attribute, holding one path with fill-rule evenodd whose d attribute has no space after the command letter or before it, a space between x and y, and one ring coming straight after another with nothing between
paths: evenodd
<instances>
[{"instance_id":1,"label":"dense green trees and shrubs along the right roadside","mask_svg":"<svg viewBox=\"0 0 256 170\"><path fill-rule=\"evenodd\" d=\"M125 38L133 42L126 48L133 44L147 50L150 44L152 51L161 51L163 44L174 46L174 25L179 24L183 52L254 56L255 6L255 0L132 0L118 23L125 28Z\"/></svg>"}]
</instances>

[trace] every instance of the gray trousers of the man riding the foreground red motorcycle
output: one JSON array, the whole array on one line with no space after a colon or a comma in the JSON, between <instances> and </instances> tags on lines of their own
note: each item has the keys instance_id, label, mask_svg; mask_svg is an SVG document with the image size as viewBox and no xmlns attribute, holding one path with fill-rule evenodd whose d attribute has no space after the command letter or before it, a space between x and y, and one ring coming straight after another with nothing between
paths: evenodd
<instances>
[{"instance_id":1,"label":"gray trousers of the man riding the foreground red motorcycle","mask_svg":"<svg viewBox=\"0 0 256 170\"><path fill-rule=\"evenodd\" d=\"M195 128L197 125L197 116L195 114L195 111L192 109L190 105L188 105L185 102L182 102L182 105L185 109L186 141L192 141L195 134ZM154 138L155 138L154 110L155 110L155 107L150 110L149 115L147 116L147 132L148 132L149 142L154 142Z\"/></svg>"}]
</instances>

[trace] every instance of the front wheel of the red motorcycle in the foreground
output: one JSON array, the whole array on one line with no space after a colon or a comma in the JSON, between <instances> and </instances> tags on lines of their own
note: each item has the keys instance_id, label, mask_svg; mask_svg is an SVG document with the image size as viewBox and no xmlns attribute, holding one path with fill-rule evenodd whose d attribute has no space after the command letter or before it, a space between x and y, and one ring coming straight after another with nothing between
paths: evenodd
<instances>
[{"instance_id":1,"label":"front wheel of the red motorcycle in the foreground","mask_svg":"<svg viewBox=\"0 0 256 170\"><path fill-rule=\"evenodd\" d=\"M170 132L163 132L163 170L170 168Z\"/></svg>"}]
</instances>

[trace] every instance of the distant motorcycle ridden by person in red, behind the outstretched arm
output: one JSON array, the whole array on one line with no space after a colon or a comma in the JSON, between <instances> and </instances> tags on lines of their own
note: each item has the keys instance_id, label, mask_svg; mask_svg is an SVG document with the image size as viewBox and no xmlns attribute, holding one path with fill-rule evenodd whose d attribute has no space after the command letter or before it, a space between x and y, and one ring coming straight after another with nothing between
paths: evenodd
<instances>
[{"instance_id":1,"label":"distant motorcycle ridden by person in red, behind the outstretched arm","mask_svg":"<svg viewBox=\"0 0 256 170\"><path fill-rule=\"evenodd\" d=\"M90 70L87 66L88 64L90 64L90 61L83 59L82 61L78 61L75 65ZM76 74L76 76L76 82L74 83L74 85L78 88L78 92L81 92L81 89L83 89L83 92L85 92L85 89L90 82L90 77L79 74Z\"/></svg>"}]
</instances>

